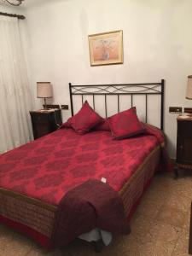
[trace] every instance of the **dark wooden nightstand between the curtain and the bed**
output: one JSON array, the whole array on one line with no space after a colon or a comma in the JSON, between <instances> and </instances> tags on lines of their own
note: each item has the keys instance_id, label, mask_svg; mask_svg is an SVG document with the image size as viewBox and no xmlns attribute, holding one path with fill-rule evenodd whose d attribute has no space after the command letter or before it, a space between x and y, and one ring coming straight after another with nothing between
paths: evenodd
<instances>
[{"instance_id":1,"label":"dark wooden nightstand between the curtain and the bed","mask_svg":"<svg viewBox=\"0 0 192 256\"><path fill-rule=\"evenodd\" d=\"M55 131L62 124L61 109L30 111L34 139Z\"/></svg>"}]
</instances>

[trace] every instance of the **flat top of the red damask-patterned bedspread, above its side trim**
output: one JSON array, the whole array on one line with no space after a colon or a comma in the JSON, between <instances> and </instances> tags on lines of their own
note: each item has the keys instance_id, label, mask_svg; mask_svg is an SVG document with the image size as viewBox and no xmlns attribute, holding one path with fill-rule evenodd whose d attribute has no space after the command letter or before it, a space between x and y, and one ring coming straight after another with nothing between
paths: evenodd
<instances>
[{"instance_id":1,"label":"flat top of the red damask-patterned bedspread, above its side trim","mask_svg":"<svg viewBox=\"0 0 192 256\"><path fill-rule=\"evenodd\" d=\"M154 133L163 141L159 130ZM68 190L90 178L106 177L119 191L159 144L153 135L116 141L109 131L82 136L72 129L60 129L2 154L0 188L55 206Z\"/></svg>"}]
</instances>

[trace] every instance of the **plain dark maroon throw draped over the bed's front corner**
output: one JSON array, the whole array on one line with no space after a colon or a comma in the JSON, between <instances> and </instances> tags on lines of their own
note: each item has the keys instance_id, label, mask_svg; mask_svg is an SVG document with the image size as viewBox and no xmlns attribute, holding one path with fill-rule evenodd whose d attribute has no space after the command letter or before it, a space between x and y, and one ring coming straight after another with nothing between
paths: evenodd
<instances>
[{"instance_id":1,"label":"plain dark maroon throw draped over the bed's front corner","mask_svg":"<svg viewBox=\"0 0 192 256\"><path fill-rule=\"evenodd\" d=\"M62 198L55 217L51 247L61 247L95 228L129 234L123 201L107 183L90 179Z\"/></svg>"}]
</instances>

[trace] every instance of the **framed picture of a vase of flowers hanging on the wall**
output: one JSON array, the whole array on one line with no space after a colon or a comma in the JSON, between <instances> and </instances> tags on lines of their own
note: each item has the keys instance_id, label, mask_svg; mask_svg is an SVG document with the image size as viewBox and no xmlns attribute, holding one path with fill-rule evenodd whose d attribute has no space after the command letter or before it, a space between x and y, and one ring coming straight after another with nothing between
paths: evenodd
<instances>
[{"instance_id":1,"label":"framed picture of a vase of flowers hanging on the wall","mask_svg":"<svg viewBox=\"0 0 192 256\"><path fill-rule=\"evenodd\" d=\"M123 31L105 32L88 36L90 65L123 63Z\"/></svg>"}]
</instances>

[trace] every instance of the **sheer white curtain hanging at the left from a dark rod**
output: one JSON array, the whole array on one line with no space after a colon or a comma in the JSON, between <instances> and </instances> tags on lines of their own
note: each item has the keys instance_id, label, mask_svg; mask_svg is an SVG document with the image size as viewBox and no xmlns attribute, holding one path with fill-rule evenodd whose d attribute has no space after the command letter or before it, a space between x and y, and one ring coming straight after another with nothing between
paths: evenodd
<instances>
[{"instance_id":1,"label":"sheer white curtain hanging at the left from a dark rod","mask_svg":"<svg viewBox=\"0 0 192 256\"><path fill-rule=\"evenodd\" d=\"M31 109L18 19L0 15L0 153L32 139Z\"/></svg>"}]
</instances>

